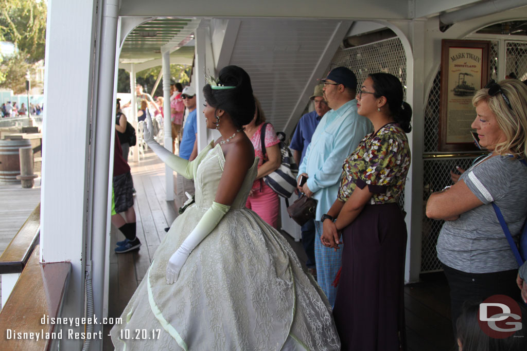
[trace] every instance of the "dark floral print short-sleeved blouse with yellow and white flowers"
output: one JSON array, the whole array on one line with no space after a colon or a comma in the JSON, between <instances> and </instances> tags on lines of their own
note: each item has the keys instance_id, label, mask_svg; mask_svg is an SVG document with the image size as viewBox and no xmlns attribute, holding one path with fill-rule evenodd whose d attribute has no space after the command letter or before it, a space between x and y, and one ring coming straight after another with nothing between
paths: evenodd
<instances>
[{"instance_id":1,"label":"dark floral print short-sleeved blouse with yellow and white flowers","mask_svg":"<svg viewBox=\"0 0 527 351\"><path fill-rule=\"evenodd\" d=\"M363 189L367 185L373 193L370 204L397 202L404 190L410 159L403 129L396 123L384 125L366 135L344 161L338 199L345 202L356 186Z\"/></svg>"}]
</instances>

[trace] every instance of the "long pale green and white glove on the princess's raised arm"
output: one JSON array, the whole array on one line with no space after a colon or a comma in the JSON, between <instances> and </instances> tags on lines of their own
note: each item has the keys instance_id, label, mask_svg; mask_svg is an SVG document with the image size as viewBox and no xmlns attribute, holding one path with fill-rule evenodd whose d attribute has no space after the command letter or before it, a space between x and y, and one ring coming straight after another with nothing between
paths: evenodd
<instances>
[{"instance_id":1,"label":"long pale green and white glove on the princess's raised arm","mask_svg":"<svg viewBox=\"0 0 527 351\"><path fill-rule=\"evenodd\" d=\"M194 172L198 168L198 165L201 162L201 159L207 154L208 149L211 145L207 146L193 161L188 161L187 159L181 158L172 154L170 151L162 147L154 140L153 136L153 127L152 127L152 118L147 109L147 123L143 124L143 139L144 142L152 149L152 151L158 155L158 157L163 161L167 166L172 168L175 172L182 175L187 179L194 178ZM207 151L205 151L207 150Z\"/></svg>"}]
</instances>

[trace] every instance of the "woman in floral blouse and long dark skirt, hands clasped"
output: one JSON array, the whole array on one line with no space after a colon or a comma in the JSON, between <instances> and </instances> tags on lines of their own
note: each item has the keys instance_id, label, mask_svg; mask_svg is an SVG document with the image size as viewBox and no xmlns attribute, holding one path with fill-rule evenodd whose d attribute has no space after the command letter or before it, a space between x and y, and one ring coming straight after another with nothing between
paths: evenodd
<instances>
[{"instance_id":1,"label":"woman in floral blouse and long dark skirt, hands clasped","mask_svg":"<svg viewBox=\"0 0 527 351\"><path fill-rule=\"evenodd\" d=\"M406 224L398 206L410 149L411 107L399 79L370 74L357 94L357 112L375 132L343 165L338 198L323 217L325 246L346 242L333 315L342 349L406 349L404 265Z\"/></svg>"}]
</instances>

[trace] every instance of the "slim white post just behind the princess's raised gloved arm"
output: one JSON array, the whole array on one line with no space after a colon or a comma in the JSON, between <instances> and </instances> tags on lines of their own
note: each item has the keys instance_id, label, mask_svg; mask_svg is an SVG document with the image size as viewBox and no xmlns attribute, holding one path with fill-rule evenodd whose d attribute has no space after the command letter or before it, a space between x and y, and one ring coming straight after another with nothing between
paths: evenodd
<instances>
[{"instance_id":1,"label":"slim white post just behind the princess's raised gloved arm","mask_svg":"<svg viewBox=\"0 0 527 351\"><path fill-rule=\"evenodd\" d=\"M172 119L170 113L170 51L165 51L162 54L162 72L164 147L168 151L174 152L172 149ZM167 201L174 199L174 171L167 165L165 165L165 199Z\"/></svg>"}]
</instances>

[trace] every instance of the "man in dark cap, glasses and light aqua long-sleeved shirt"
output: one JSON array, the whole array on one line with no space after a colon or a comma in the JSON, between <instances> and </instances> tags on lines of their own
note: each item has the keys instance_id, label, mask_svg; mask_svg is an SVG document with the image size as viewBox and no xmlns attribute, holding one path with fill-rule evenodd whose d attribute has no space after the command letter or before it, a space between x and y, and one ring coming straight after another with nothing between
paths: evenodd
<instances>
[{"instance_id":1,"label":"man in dark cap, glasses and light aqua long-sleeved shirt","mask_svg":"<svg viewBox=\"0 0 527 351\"><path fill-rule=\"evenodd\" d=\"M333 280L340 268L342 250L335 251L321 244L321 218L337 198L342 163L373 128L368 119L357 115L355 73L346 67L337 67L323 82L324 97L331 110L313 133L299 167L297 182L301 175L308 177L298 189L318 201L315 216L317 282L333 306L337 295Z\"/></svg>"}]
</instances>

